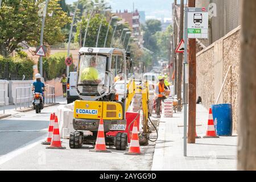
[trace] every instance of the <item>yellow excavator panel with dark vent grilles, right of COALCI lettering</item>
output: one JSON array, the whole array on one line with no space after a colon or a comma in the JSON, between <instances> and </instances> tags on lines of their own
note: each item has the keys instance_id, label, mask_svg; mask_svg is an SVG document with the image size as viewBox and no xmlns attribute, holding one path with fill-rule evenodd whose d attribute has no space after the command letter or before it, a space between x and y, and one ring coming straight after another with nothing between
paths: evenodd
<instances>
[{"instance_id":1,"label":"yellow excavator panel with dark vent grilles, right of COALCI lettering","mask_svg":"<svg viewBox=\"0 0 256 182\"><path fill-rule=\"evenodd\" d=\"M119 120L123 118L122 105L118 102L103 102L103 119Z\"/></svg>"}]
</instances>

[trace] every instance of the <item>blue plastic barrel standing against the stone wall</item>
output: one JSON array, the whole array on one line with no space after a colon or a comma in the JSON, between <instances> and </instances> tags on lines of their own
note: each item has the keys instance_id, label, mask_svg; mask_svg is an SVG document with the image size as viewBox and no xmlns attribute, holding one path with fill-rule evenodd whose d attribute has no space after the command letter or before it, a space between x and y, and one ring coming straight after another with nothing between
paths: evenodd
<instances>
[{"instance_id":1,"label":"blue plastic barrel standing against the stone wall","mask_svg":"<svg viewBox=\"0 0 256 182\"><path fill-rule=\"evenodd\" d=\"M212 105L212 115L217 135L232 136L232 105Z\"/></svg>"}]
</instances>

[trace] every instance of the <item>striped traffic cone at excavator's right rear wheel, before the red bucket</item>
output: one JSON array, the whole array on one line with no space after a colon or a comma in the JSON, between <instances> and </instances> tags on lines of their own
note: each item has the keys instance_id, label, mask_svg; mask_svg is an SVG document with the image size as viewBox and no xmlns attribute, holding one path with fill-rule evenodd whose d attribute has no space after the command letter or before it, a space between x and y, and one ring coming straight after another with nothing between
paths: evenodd
<instances>
[{"instance_id":1,"label":"striped traffic cone at excavator's right rear wheel, before the red bucket","mask_svg":"<svg viewBox=\"0 0 256 182\"><path fill-rule=\"evenodd\" d=\"M128 152L124 153L125 155L144 155L139 148L139 135L138 135L138 126L137 121L134 121L133 124L133 133L131 134L131 144Z\"/></svg>"}]
</instances>

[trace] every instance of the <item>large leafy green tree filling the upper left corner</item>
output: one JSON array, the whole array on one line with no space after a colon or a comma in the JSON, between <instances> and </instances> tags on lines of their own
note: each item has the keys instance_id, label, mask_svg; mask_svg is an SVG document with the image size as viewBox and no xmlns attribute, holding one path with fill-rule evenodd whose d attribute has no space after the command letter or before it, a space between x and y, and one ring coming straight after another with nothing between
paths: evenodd
<instances>
[{"instance_id":1,"label":"large leafy green tree filling the upper left corner","mask_svg":"<svg viewBox=\"0 0 256 182\"><path fill-rule=\"evenodd\" d=\"M18 50L19 43L27 42L31 46L38 46L40 43L40 30L42 28L43 10L39 5L43 0L19 1L5 0L2 2L0 11L0 54L9 55ZM46 26L44 27L44 44L63 42L64 36L61 27L69 22L67 13L61 10L57 0L49 1Z\"/></svg>"}]
</instances>

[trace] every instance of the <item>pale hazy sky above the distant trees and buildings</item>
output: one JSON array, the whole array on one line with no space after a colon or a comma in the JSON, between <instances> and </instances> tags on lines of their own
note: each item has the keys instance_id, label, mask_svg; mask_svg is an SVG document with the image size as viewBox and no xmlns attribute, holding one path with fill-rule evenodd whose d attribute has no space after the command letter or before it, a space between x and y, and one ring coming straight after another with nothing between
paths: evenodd
<instances>
[{"instance_id":1,"label":"pale hazy sky above the distant trees and buildings","mask_svg":"<svg viewBox=\"0 0 256 182\"><path fill-rule=\"evenodd\" d=\"M76 2L77 0L66 0L66 3ZM135 9L145 11L146 19L149 18L171 18L171 5L173 0L106 0L112 6L113 12L116 10Z\"/></svg>"}]
</instances>

